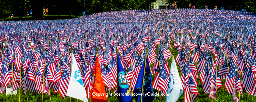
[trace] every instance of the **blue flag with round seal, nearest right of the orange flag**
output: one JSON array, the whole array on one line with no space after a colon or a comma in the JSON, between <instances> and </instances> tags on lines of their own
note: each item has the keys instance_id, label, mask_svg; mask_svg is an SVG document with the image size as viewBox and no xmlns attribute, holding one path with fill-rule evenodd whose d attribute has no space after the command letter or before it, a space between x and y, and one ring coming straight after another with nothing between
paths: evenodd
<instances>
[{"instance_id":1,"label":"blue flag with round seal, nearest right of the orange flag","mask_svg":"<svg viewBox=\"0 0 256 102\"><path fill-rule=\"evenodd\" d=\"M117 98L121 102L131 102L132 96L130 94L130 89L127 83L127 78L125 76L123 66L124 64L120 60L120 55L117 54L117 80L118 80Z\"/></svg>"}]
</instances>

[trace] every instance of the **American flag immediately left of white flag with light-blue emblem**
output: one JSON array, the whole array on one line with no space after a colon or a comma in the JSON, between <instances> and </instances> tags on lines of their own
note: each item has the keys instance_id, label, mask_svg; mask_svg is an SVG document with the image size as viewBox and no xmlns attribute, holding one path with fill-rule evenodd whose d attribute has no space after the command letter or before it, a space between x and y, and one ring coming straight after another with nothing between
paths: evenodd
<instances>
[{"instance_id":1,"label":"American flag immediately left of white flag with light-blue emblem","mask_svg":"<svg viewBox=\"0 0 256 102\"><path fill-rule=\"evenodd\" d=\"M67 67L63 70L63 73L61 74L60 78L60 84L59 84L59 94L62 99L67 97L67 90L68 90L68 83L70 78L70 71Z\"/></svg>"}]
</instances>

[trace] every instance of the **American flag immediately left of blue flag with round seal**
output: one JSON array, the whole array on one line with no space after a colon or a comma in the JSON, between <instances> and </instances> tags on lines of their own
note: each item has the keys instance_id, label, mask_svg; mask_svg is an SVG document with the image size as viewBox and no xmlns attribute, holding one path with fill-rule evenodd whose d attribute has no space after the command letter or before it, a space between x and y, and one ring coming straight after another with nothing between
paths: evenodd
<instances>
[{"instance_id":1,"label":"American flag immediately left of blue flag with round seal","mask_svg":"<svg viewBox=\"0 0 256 102\"><path fill-rule=\"evenodd\" d=\"M113 57L110 59L110 62L108 64L108 69L111 70L110 77L111 77L111 82L112 82L112 86L111 86L111 89L112 89L112 88L114 88L117 85L117 83L116 83L116 79L117 79L117 66L116 66L116 62L115 62Z\"/></svg>"}]
</instances>

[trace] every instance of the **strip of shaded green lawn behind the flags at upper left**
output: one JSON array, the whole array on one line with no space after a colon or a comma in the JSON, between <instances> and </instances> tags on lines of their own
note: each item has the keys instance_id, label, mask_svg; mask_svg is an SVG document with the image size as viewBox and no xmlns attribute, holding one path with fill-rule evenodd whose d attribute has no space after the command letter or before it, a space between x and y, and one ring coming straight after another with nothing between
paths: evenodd
<instances>
[{"instance_id":1,"label":"strip of shaded green lawn behind the flags at upper left","mask_svg":"<svg viewBox=\"0 0 256 102\"><path fill-rule=\"evenodd\" d=\"M20 18L21 17L21 18ZM33 17L33 16L32 16ZM71 17L69 17L68 15L48 15L48 16L43 16L45 20L53 20L53 19L70 19L70 18L78 18L78 17L81 17L81 16L76 16L76 17L73 17L73 15L71 15ZM10 20L30 20L30 16L28 16L28 18L25 18L25 16L18 16L18 17L13 17L13 18L5 18L6 21L10 21ZM41 20L42 18L40 18ZM4 18L0 18L0 21L4 20ZM39 20L39 18L37 19Z\"/></svg>"}]
</instances>

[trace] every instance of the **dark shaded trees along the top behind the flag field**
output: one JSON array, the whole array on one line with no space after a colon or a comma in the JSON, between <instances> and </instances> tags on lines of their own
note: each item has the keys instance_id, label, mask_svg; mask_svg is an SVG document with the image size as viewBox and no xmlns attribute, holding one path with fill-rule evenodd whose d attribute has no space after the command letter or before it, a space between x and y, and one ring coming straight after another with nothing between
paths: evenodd
<instances>
[{"instance_id":1,"label":"dark shaded trees along the top behind the flag field","mask_svg":"<svg viewBox=\"0 0 256 102\"><path fill-rule=\"evenodd\" d=\"M110 8L114 11L118 10L142 10L147 9L150 2L156 0L0 0L0 17L9 17L13 14L17 16L25 16L26 10L33 9L33 18L43 17L43 8L48 8L48 15L67 15L68 11L72 11L72 15L82 15L83 11L89 10L89 14L106 12ZM165 0L166 4L173 3L174 0ZM256 0L177 0L178 8L188 8L188 4L196 5L197 9L204 9L207 5L209 9L217 6L220 9L224 6L229 10L256 12Z\"/></svg>"}]
</instances>

